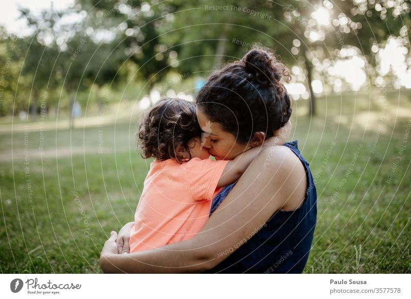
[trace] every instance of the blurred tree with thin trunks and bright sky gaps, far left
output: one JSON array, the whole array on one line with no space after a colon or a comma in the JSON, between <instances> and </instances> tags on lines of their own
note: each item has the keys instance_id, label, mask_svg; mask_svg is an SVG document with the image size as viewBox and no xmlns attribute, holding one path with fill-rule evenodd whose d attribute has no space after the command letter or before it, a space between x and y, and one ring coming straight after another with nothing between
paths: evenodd
<instances>
[{"instance_id":1,"label":"blurred tree with thin trunks and bright sky gaps, far left","mask_svg":"<svg viewBox=\"0 0 411 299\"><path fill-rule=\"evenodd\" d=\"M30 103L33 117L38 112L40 91L59 86L68 95L68 115L73 126L72 108L79 92L118 79L118 68L125 60L124 47L116 47L112 40L98 41L95 36L95 30L106 22L107 15L95 20L92 27L84 19L79 24L65 22L67 16L81 16L80 10L81 7L74 6L61 12L51 6L33 15L21 9L22 17L33 30L32 35L19 40L21 48L27 49L23 72L33 78Z\"/></svg>"}]
</instances>

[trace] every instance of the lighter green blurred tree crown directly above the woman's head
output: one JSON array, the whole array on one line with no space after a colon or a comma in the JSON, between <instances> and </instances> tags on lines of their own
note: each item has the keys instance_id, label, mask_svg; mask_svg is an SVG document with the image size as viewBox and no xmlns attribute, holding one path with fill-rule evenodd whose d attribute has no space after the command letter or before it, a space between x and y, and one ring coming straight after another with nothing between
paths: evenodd
<instances>
[{"instance_id":1,"label":"lighter green blurred tree crown directly above the woman's head","mask_svg":"<svg viewBox=\"0 0 411 299\"><path fill-rule=\"evenodd\" d=\"M178 52L180 72L209 71L223 61L240 59L253 43L273 45L268 34L282 12L267 1L216 0L184 2L172 21L161 28L163 41Z\"/></svg>"}]
</instances>

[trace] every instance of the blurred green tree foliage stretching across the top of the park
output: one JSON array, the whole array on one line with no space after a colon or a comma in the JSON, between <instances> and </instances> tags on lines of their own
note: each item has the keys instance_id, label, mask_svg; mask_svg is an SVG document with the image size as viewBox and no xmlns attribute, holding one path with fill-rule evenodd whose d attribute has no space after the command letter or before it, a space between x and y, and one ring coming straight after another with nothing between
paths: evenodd
<instances>
[{"instance_id":1,"label":"blurred green tree foliage stretching across the top of the park","mask_svg":"<svg viewBox=\"0 0 411 299\"><path fill-rule=\"evenodd\" d=\"M355 49L350 53L361 56L375 78L378 49L390 36L409 48L411 26L406 0L80 0L65 11L21 9L21 17L32 34L3 30L1 39L0 58L10 60L0 86L1 115L30 109L35 116L44 92L62 95L48 98L47 107L70 108L74 101L101 102L98 90L118 84L143 82L148 93L169 73L204 78L256 43L290 68L301 67L297 80L309 89L314 114L311 81L324 76L332 84L327 67L350 59L343 49Z\"/></svg>"}]
</instances>

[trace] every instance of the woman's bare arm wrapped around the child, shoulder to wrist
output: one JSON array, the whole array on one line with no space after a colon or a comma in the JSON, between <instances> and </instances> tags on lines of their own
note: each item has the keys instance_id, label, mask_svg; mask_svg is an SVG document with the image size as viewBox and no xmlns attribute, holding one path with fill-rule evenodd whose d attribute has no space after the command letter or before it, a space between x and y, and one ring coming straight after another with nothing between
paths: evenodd
<instances>
[{"instance_id":1,"label":"woman's bare arm wrapped around the child, shoulder to wrist","mask_svg":"<svg viewBox=\"0 0 411 299\"><path fill-rule=\"evenodd\" d=\"M103 249L102 270L195 273L211 269L253 236L276 210L297 208L306 189L304 167L292 151L285 146L265 148L195 237L127 255Z\"/></svg>"}]
</instances>

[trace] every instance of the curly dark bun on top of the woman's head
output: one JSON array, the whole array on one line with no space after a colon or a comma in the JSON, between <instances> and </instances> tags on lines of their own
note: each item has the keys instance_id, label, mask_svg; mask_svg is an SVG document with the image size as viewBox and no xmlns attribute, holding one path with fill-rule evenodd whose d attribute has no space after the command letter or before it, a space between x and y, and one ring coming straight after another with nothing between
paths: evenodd
<instances>
[{"instance_id":1,"label":"curly dark bun on top of the woman's head","mask_svg":"<svg viewBox=\"0 0 411 299\"><path fill-rule=\"evenodd\" d=\"M264 49L252 49L244 55L242 61L245 63L245 70L252 74L254 82L263 85L274 85L282 87L281 78L289 76L285 66L278 62L271 52ZM288 78L288 81L291 78ZM283 88L280 88L283 89ZM282 90L277 90L281 92Z\"/></svg>"}]
</instances>

